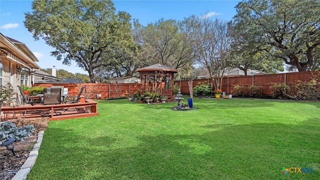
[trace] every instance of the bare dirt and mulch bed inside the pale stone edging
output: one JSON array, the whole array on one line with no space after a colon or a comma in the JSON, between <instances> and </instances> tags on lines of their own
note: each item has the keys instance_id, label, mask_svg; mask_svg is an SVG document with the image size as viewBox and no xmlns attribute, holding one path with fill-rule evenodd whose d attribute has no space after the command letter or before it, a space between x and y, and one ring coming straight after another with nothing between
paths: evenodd
<instances>
[{"instance_id":1,"label":"bare dirt and mulch bed inside the pale stone edging","mask_svg":"<svg viewBox=\"0 0 320 180\"><path fill-rule=\"evenodd\" d=\"M17 118L10 121L18 127L33 124L34 132L32 132L33 136L28 137L25 141L13 142L16 156L13 156L12 152L6 150L5 147L0 147L0 179L2 180L11 179L18 172L36 142L37 133L47 128L49 120L48 117L38 117Z\"/></svg>"}]
</instances>

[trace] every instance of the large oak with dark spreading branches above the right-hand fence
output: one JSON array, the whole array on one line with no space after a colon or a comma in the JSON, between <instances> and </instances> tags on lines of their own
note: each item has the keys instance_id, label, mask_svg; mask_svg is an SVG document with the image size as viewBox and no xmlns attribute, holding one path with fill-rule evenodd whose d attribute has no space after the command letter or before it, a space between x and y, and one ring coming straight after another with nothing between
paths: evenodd
<instances>
[{"instance_id":1,"label":"large oak with dark spreading branches above the right-hand fence","mask_svg":"<svg viewBox=\"0 0 320 180\"><path fill-rule=\"evenodd\" d=\"M319 0L246 0L236 5L234 30L243 51L264 51L298 71L316 68Z\"/></svg>"}]
</instances>

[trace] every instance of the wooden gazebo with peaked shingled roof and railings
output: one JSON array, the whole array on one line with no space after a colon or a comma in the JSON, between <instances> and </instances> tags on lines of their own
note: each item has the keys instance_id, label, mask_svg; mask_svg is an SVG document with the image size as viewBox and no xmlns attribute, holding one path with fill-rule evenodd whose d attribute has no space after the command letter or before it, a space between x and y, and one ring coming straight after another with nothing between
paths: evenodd
<instances>
[{"instance_id":1,"label":"wooden gazebo with peaked shingled roof and railings","mask_svg":"<svg viewBox=\"0 0 320 180\"><path fill-rule=\"evenodd\" d=\"M178 71L162 64L153 64L136 69L140 72L142 91L159 92L168 98L173 97L173 74Z\"/></svg>"}]
</instances>

